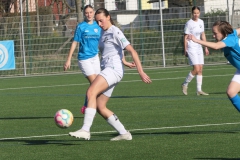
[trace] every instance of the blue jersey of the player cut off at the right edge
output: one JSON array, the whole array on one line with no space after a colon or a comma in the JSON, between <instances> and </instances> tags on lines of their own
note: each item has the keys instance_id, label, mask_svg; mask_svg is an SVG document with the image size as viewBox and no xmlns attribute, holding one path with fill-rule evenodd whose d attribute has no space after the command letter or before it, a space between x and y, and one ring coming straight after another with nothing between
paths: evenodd
<instances>
[{"instance_id":1,"label":"blue jersey of the player cut off at the right edge","mask_svg":"<svg viewBox=\"0 0 240 160\"><path fill-rule=\"evenodd\" d=\"M224 38L222 42L226 45L223 48L224 56L234 67L240 70L240 39L237 31L233 30L233 33Z\"/></svg>"}]
</instances>

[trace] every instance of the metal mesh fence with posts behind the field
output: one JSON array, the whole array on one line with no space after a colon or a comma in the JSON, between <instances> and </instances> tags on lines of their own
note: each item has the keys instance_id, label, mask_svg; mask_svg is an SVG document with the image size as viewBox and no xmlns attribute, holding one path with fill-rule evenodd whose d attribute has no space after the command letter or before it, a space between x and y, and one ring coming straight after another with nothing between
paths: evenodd
<instances>
[{"instance_id":1,"label":"metal mesh fence with posts behind the field","mask_svg":"<svg viewBox=\"0 0 240 160\"><path fill-rule=\"evenodd\" d=\"M32 12L25 8L17 14L2 13L0 40L14 40L16 69L0 71L1 77L63 73L63 65L78 23L78 14L71 12L70 9L57 14L57 6L54 8L55 4L53 7L50 5L38 7L35 5L36 8ZM95 3L98 7L103 5L106 4ZM191 7L163 10L156 6L155 9L141 10L139 7L134 10L124 10L125 8L110 10L110 14L138 52L144 68L188 65L188 60L183 56L183 29L191 17ZM214 41L211 25L216 20L231 19L235 28L239 25L240 16L237 10L236 12L233 10L231 12L233 16L229 16L228 10L218 9L205 13L206 7L200 8L209 41ZM77 52L76 49L71 70L68 72L79 72ZM131 61L130 55L128 53L125 55L126 59ZM220 50L210 50L210 55L205 57L205 63L226 63L226 60Z\"/></svg>"}]
</instances>

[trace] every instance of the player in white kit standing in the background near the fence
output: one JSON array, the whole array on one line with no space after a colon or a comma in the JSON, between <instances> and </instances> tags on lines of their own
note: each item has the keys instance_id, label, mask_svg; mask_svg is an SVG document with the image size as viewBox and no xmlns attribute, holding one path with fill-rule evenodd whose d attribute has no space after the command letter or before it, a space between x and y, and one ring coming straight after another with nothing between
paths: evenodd
<instances>
[{"instance_id":1,"label":"player in white kit standing in the background near the fence","mask_svg":"<svg viewBox=\"0 0 240 160\"><path fill-rule=\"evenodd\" d=\"M187 75L185 81L182 83L182 92L187 95L188 83L196 76L197 81L197 95L208 95L202 91L202 71L204 64L204 55L202 45L188 41L188 34L194 35L197 39L202 39L206 41L206 36L204 33L204 23L203 20L199 19L200 8L194 6L192 8L192 19L190 19L184 28L184 55L188 57L189 64L193 66L193 69ZM209 55L208 48L205 47L206 55Z\"/></svg>"}]
</instances>

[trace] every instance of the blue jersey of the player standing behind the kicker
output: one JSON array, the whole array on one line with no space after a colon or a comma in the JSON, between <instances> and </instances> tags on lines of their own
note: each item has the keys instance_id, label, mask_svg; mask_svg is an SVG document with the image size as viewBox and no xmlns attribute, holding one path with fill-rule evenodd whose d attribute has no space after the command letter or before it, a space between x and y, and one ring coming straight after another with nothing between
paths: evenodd
<instances>
[{"instance_id":1,"label":"blue jersey of the player standing behind the kicker","mask_svg":"<svg viewBox=\"0 0 240 160\"><path fill-rule=\"evenodd\" d=\"M98 54L101 30L95 21L93 21L93 24L84 21L77 25L73 40L80 43L78 60L86 60Z\"/></svg>"}]
</instances>

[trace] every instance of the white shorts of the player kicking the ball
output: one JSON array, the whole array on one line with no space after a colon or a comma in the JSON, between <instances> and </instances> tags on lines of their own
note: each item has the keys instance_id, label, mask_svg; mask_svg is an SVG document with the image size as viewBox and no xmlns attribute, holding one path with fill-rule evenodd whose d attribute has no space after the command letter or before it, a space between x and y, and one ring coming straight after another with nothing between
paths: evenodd
<instances>
[{"instance_id":1,"label":"white shorts of the player kicking the ball","mask_svg":"<svg viewBox=\"0 0 240 160\"><path fill-rule=\"evenodd\" d=\"M111 97L114 87L121 81L123 75L113 68L107 67L99 73L108 83L108 88L103 92L107 97Z\"/></svg>"}]
</instances>

